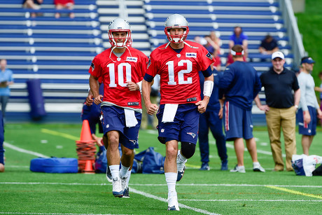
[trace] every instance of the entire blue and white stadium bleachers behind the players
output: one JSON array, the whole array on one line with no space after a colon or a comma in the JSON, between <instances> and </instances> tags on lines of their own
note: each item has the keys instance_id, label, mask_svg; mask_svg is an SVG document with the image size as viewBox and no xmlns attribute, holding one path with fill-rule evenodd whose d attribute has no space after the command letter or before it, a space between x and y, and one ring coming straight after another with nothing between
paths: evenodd
<instances>
[{"instance_id":1,"label":"entire blue and white stadium bleachers behind the players","mask_svg":"<svg viewBox=\"0 0 322 215\"><path fill-rule=\"evenodd\" d=\"M121 4L123 2L124 4ZM109 48L109 22L122 15L132 27L133 47L149 55L166 43L164 23L173 13L184 15L190 27L189 40L215 31L222 41L221 62L228 55L229 37L235 26L248 35L248 60L259 72L270 62L262 62L260 41L270 34L293 62L288 34L276 0L75 0L73 13L63 10L55 19L52 0L44 0L41 10L22 8L22 0L0 0L0 57L8 60L15 84L8 103L8 120L29 120L26 81L40 78L47 120L79 119L87 95L88 68L92 58ZM30 14L38 13L36 18ZM254 112L256 113L256 109ZM61 117L62 116L62 117Z\"/></svg>"}]
</instances>

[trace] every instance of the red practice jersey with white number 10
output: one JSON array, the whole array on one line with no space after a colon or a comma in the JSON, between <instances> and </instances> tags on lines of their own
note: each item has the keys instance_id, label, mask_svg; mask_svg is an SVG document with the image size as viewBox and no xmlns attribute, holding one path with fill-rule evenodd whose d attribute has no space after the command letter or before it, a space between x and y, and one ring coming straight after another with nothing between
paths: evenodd
<instances>
[{"instance_id":1,"label":"red practice jersey with white number 10","mask_svg":"<svg viewBox=\"0 0 322 215\"><path fill-rule=\"evenodd\" d=\"M126 49L120 57L111 53L111 48L104 50L92 60L89 73L97 78L102 77L103 102L141 109L140 91L130 91L126 82L142 81L146 74L148 57L135 48L129 48L129 50Z\"/></svg>"}]
</instances>

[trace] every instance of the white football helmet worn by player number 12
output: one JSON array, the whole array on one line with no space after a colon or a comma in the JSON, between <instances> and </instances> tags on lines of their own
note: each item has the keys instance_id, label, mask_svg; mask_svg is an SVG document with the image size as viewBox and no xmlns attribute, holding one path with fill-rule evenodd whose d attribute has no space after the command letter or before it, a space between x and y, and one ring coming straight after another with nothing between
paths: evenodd
<instances>
[{"instance_id":1,"label":"white football helmet worn by player number 12","mask_svg":"<svg viewBox=\"0 0 322 215\"><path fill-rule=\"evenodd\" d=\"M172 28L182 28L184 29L184 32L182 35L171 35L169 30ZM165 35L167 35L167 38L172 43L182 43L187 39L189 32L188 22L186 18L183 17L183 15L180 15L178 13L175 13L173 15L170 15L169 18L165 21Z\"/></svg>"}]
</instances>

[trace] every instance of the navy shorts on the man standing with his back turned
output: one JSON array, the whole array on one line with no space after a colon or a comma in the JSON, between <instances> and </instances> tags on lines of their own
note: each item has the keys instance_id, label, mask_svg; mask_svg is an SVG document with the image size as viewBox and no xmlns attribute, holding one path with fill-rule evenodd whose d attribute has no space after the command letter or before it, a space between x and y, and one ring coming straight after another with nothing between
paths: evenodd
<instances>
[{"instance_id":1,"label":"navy shorts on the man standing with his back turned","mask_svg":"<svg viewBox=\"0 0 322 215\"><path fill-rule=\"evenodd\" d=\"M241 109L231 102L225 102L223 110L226 140L253 138L251 111Z\"/></svg>"}]
</instances>

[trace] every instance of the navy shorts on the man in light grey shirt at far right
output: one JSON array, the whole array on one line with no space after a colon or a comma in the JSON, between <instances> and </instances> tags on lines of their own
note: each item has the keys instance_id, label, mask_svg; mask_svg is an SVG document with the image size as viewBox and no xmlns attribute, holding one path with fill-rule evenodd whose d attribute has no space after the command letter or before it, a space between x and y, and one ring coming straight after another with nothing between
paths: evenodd
<instances>
[{"instance_id":1,"label":"navy shorts on the man in light grey shirt at far right","mask_svg":"<svg viewBox=\"0 0 322 215\"><path fill-rule=\"evenodd\" d=\"M297 111L298 120L298 132L302 135L313 136L316 134L316 109L313 106L307 106L309 109L309 115L311 116L311 122L309 124L304 123L304 112L302 109Z\"/></svg>"}]
</instances>

